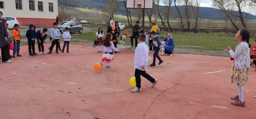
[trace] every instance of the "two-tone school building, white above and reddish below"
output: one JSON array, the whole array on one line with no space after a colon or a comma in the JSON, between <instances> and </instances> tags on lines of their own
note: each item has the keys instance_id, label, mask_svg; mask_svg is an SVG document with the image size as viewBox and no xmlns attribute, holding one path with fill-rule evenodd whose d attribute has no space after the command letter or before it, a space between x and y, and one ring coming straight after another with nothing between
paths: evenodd
<instances>
[{"instance_id":1,"label":"two-tone school building, white above and reddish below","mask_svg":"<svg viewBox=\"0 0 256 119\"><path fill-rule=\"evenodd\" d=\"M52 26L58 15L58 0L0 0L3 16L16 17L20 25Z\"/></svg>"}]
</instances>

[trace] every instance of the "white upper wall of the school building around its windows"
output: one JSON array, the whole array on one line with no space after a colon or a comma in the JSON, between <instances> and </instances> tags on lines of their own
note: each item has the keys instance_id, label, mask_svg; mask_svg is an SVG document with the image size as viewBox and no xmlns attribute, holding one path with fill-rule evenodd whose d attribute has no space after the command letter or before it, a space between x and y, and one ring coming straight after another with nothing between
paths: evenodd
<instances>
[{"instance_id":1,"label":"white upper wall of the school building around its windows","mask_svg":"<svg viewBox=\"0 0 256 119\"><path fill-rule=\"evenodd\" d=\"M0 0L4 2L3 16L12 16L17 18L49 18L56 19L58 15L57 0L34 0L35 11L29 10L29 0L22 0L22 10L16 10L15 0ZM43 12L38 11L37 1L43 2ZM53 3L53 12L49 12L49 2Z\"/></svg>"}]
</instances>

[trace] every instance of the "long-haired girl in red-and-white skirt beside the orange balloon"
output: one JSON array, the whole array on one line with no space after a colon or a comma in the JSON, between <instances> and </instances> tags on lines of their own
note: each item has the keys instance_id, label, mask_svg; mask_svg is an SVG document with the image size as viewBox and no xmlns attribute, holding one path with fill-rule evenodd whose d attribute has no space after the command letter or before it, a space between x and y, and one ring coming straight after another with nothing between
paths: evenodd
<instances>
[{"instance_id":1,"label":"long-haired girl in red-and-white skirt beside the orange balloon","mask_svg":"<svg viewBox=\"0 0 256 119\"><path fill-rule=\"evenodd\" d=\"M103 50L104 54L102 55L102 60L101 60L101 67L102 65L107 63L106 68L110 68L109 63L113 61L113 50L118 52L119 50L115 48L114 43L111 41L113 38L113 35L110 33L107 33L104 41L103 41Z\"/></svg>"}]
</instances>

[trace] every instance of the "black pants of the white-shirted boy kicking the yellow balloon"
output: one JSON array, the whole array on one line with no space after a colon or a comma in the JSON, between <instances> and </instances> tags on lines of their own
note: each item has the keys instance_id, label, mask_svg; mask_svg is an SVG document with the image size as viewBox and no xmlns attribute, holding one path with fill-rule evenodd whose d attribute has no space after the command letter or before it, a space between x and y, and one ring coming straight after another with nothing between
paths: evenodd
<instances>
[{"instance_id":1,"label":"black pants of the white-shirted boy kicking the yellow balloon","mask_svg":"<svg viewBox=\"0 0 256 119\"><path fill-rule=\"evenodd\" d=\"M143 76L144 78L148 79L151 83L155 82L155 79L151 77L146 71L142 71L139 69L135 69L135 78L136 78L136 87L140 89L141 85L141 78L140 75Z\"/></svg>"}]
</instances>

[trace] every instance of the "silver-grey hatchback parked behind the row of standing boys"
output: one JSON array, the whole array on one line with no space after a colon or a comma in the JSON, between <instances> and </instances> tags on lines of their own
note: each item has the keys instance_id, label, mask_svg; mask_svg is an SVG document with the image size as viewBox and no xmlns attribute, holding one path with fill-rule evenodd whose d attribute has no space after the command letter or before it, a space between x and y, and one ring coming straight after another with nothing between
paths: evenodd
<instances>
[{"instance_id":1,"label":"silver-grey hatchback parked behind the row of standing boys","mask_svg":"<svg viewBox=\"0 0 256 119\"><path fill-rule=\"evenodd\" d=\"M65 21L58 25L58 29L61 33L65 32L65 27L68 27L69 32L83 32L82 25L79 22Z\"/></svg>"}]
</instances>

